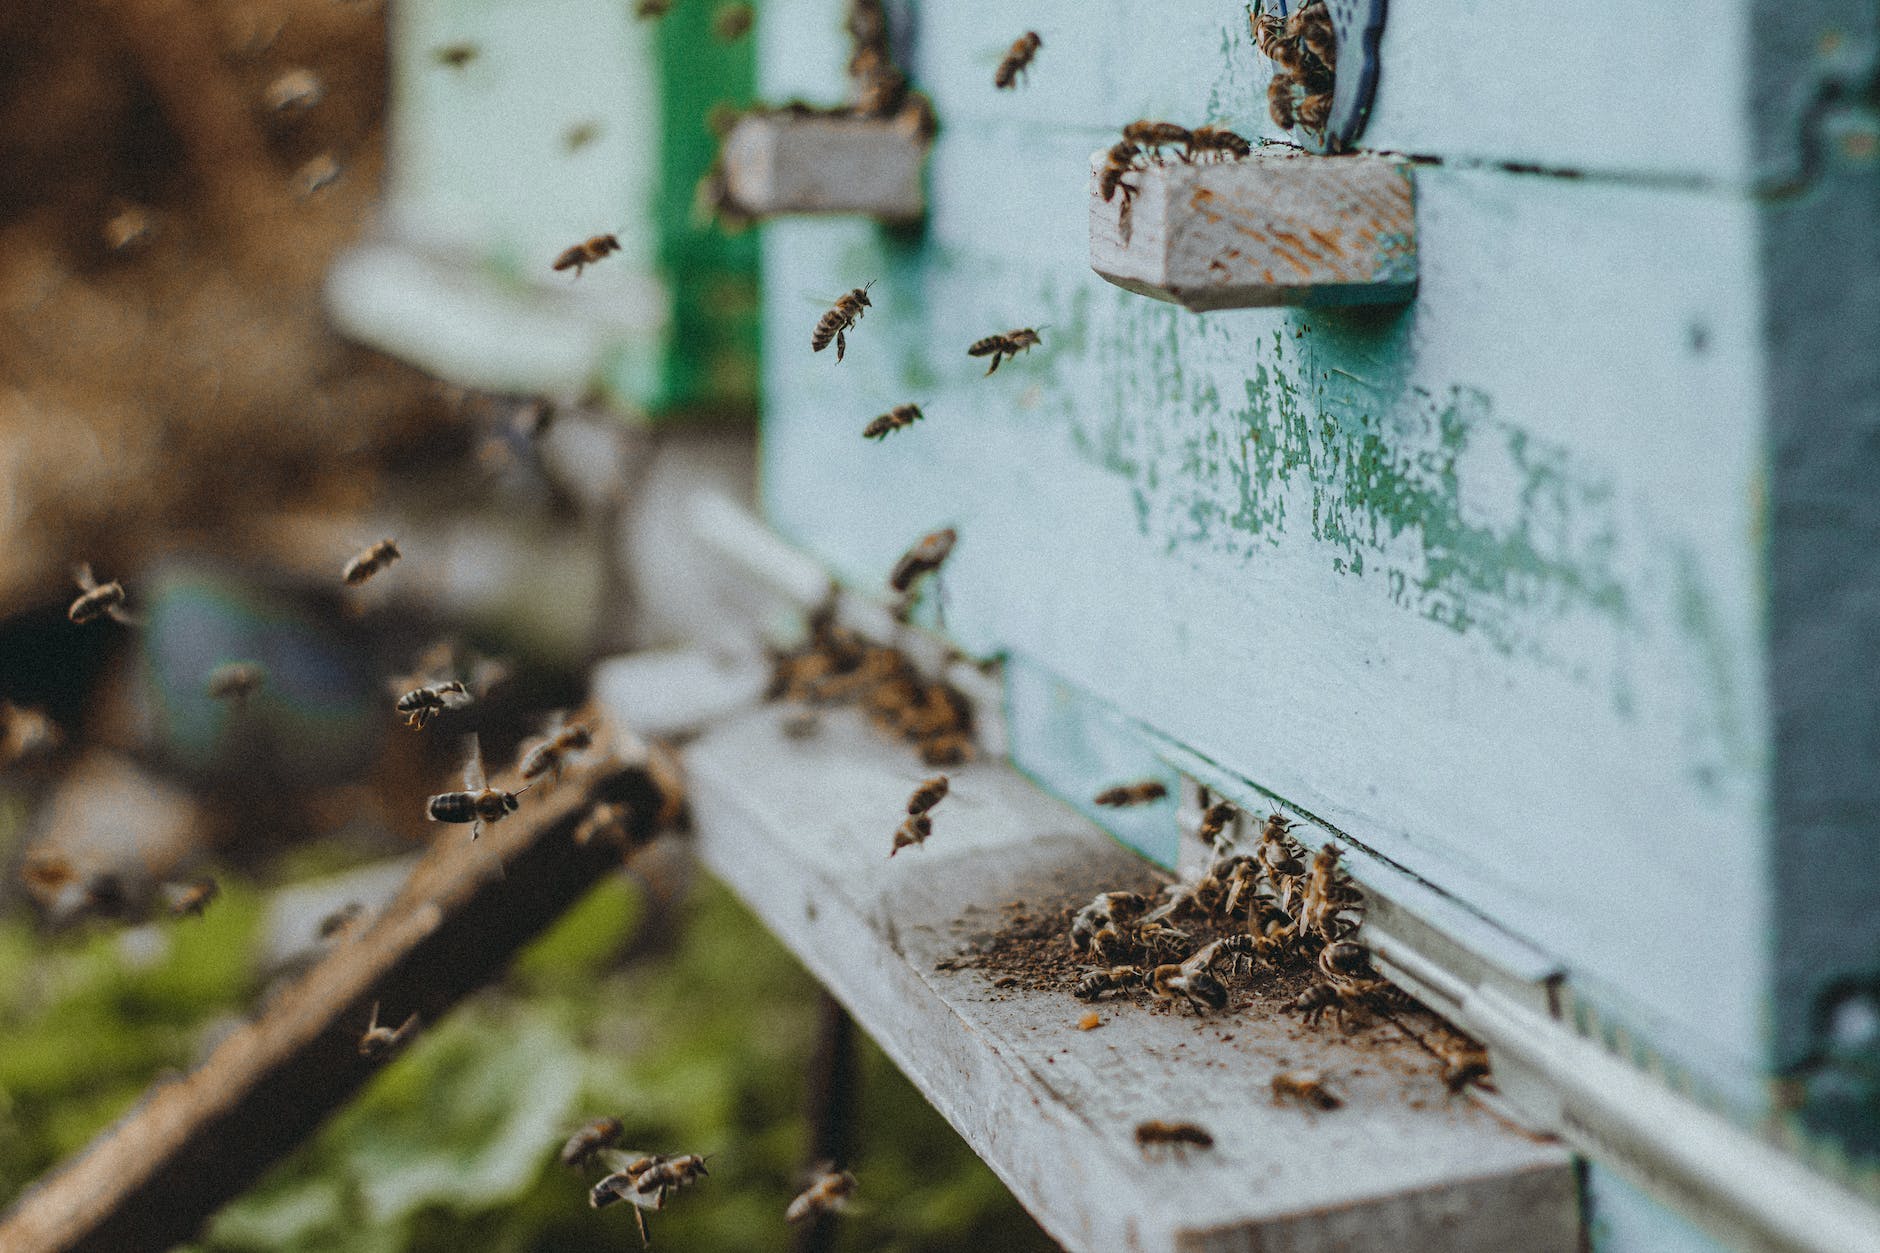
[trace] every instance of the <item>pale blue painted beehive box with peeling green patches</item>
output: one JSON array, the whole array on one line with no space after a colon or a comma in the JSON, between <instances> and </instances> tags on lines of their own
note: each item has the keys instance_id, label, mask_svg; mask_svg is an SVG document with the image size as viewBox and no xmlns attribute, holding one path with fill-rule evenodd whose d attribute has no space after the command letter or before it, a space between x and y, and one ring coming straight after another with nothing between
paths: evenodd
<instances>
[{"instance_id":1,"label":"pale blue painted beehive box with peeling green patches","mask_svg":"<svg viewBox=\"0 0 1880 1253\"><path fill-rule=\"evenodd\" d=\"M1139 117L1286 137L1245 6L910 17L925 231L765 228L773 525L857 587L957 527L944 628L1087 811L1092 743L1173 743L1547 954L1581 1031L1741 1125L1803 1074L1872 1151L1833 1059L1880 976L1880 13L1393 6L1357 147L1416 162L1414 299L1207 314L1092 273L1090 162ZM767 6L761 92L833 100L838 30ZM812 354L803 295L869 280ZM966 346L1021 325L987 378Z\"/></svg>"}]
</instances>

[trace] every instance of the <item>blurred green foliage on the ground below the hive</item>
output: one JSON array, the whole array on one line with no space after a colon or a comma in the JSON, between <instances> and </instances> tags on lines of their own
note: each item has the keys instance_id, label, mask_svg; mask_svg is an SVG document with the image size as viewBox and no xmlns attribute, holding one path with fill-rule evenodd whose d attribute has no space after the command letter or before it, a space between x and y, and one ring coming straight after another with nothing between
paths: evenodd
<instances>
[{"instance_id":1,"label":"blurred green foliage on the ground below the hive","mask_svg":"<svg viewBox=\"0 0 1880 1253\"><path fill-rule=\"evenodd\" d=\"M0 1198L81 1148L259 991L259 901L199 920L47 941L0 924ZM711 1178L652 1215L656 1247L788 1247L801 1187L816 984L729 894L699 884L667 944L637 888L590 894L489 990L417 1040L197 1245L348 1251L637 1247L600 1174L555 1163L613 1114L626 1146L703 1151ZM639 956L634 956L639 954ZM624 965L622 965L622 960ZM996 1178L865 1046L861 1206L848 1249L1049 1249Z\"/></svg>"}]
</instances>

